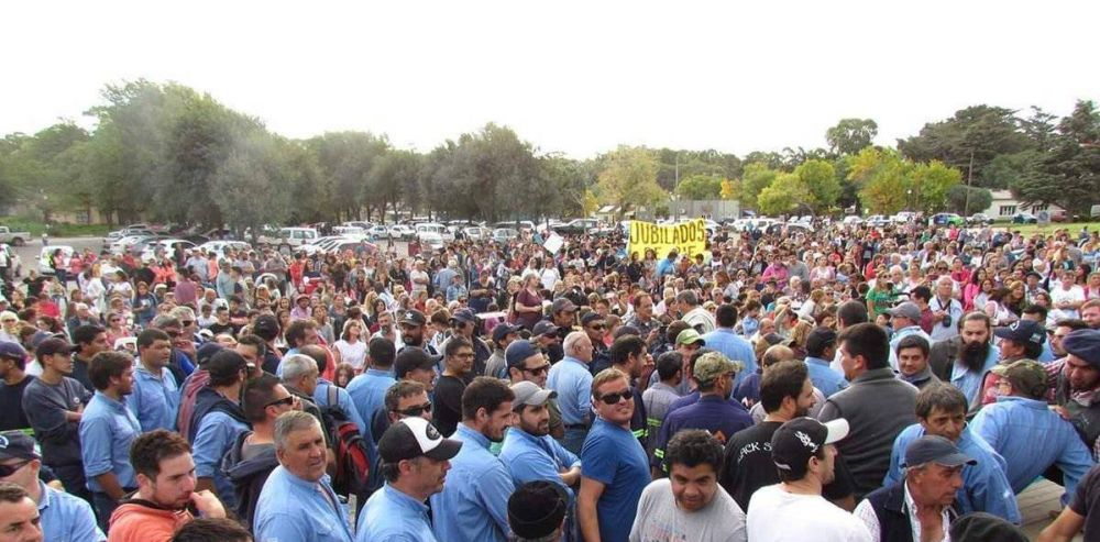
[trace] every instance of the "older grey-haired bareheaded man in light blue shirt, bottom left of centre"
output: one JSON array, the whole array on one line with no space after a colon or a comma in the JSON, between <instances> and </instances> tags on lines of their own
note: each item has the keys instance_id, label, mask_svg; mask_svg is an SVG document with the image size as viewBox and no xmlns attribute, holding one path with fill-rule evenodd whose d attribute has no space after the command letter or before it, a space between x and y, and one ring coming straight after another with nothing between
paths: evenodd
<instances>
[{"instance_id":1,"label":"older grey-haired bareheaded man in light blue shirt, bottom left of centre","mask_svg":"<svg viewBox=\"0 0 1100 542\"><path fill-rule=\"evenodd\" d=\"M317 418L292 410L275 420L272 471L256 502L256 542L352 542L348 510L332 490Z\"/></svg>"}]
</instances>

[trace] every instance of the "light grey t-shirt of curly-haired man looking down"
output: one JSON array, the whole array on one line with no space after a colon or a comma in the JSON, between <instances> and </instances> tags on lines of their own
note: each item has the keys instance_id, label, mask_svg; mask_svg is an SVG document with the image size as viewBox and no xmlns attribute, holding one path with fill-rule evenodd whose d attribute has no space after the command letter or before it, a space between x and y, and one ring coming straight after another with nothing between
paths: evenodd
<instances>
[{"instance_id":1,"label":"light grey t-shirt of curly-haired man looking down","mask_svg":"<svg viewBox=\"0 0 1100 542\"><path fill-rule=\"evenodd\" d=\"M669 478L650 483L641 491L630 542L745 542L745 512L721 486L702 510L685 512L676 506Z\"/></svg>"}]
</instances>

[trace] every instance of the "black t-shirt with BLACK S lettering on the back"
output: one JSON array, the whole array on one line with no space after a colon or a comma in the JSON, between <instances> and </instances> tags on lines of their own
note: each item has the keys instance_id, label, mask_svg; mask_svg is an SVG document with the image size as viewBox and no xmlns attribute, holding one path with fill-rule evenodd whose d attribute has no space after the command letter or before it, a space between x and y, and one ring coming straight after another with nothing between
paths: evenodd
<instances>
[{"instance_id":1,"label":"black t-shirt with BLACK S lettering on the back","mask_svg":"<svg viewBox=\"0 0 1100 542\"><path fill-rule=\"evenodd\" d=\"M748 510L749 499L757 489L779 484L779 473L771 458L771 436L780 425L778 421L760 422L734 433L726 443L718 484L743 510ZM854 489L851 473L839 454L834 465L834 479L822 489L822 496L829 500L853 495Z\"/></svg>"}]
</instances>

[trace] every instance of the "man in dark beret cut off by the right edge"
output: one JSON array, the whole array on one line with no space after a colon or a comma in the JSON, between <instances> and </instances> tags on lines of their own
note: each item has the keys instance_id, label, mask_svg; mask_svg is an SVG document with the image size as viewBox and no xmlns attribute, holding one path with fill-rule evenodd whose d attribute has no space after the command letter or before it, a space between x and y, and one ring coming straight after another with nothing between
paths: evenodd
<instances>
[{"instance_id":1,"label":"man in dark beret cut off by the right edge","mask_svg":"<svg viewBox=\"0 0 1100 542\"><path fill-rule=\"evenodd\" d=\"M1097 454L1100 438L1100 330L1078 330L1062 341L1066 351L1063 369L1058 374L1055 407L1069 420Z\"/></svg>"}]
</instances>

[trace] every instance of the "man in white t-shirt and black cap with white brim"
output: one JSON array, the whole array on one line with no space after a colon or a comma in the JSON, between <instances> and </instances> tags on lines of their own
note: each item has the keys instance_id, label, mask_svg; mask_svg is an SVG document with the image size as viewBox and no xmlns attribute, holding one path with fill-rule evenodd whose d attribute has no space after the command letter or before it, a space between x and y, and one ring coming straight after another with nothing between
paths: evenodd
<instances>
[{"instance_id":1,"label":"man in white t-shirt and black cap with white brim","mask_svg":"<svg viewBox=\"0 0 1100 542\"><path fill-rule=\"evenodd\" d=\"M848 421L843 418L827 423L795 418L776 431L771 455L781 482L752 495L747 520L749 540L872 540L855 516L822 497L822 486L834 477L835 443L847 435Z\"/></svg>"}]
</instances>

